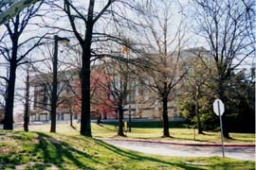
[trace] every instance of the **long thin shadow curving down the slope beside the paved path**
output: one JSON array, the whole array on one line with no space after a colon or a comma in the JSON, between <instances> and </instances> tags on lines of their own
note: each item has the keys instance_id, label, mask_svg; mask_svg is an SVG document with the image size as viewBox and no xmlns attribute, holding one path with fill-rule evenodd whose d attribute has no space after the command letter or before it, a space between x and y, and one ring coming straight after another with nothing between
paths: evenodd
<instances>
[{"instance_id":1,"label":"long thin shadow curving down the slope beside the paved path","mask_svg":"<svg viewBox=\"0 0 256 170\"><path fill-rule=\"evenodd\" d=\"M153 161L153 162L157 162L157 163L162 163L163 165L168 165L170 167L172 166L177 166L177 167L180 167L180 168L183 168L183 169L190 169L190 170L195 170L195 169L203 169L203 168L198 168L198 167L192 167L190 165L185 165L185 164L182 164L182 162L180 163L174 163L174 162L170 162L170 161L162 161L160 159L155 159L153 157L147 157L147 156L140 156L140 155L137 155L133 152L129 152L129 151L125 151L125 150L122 150L120 149L119 147L116 147L114 145L111 145L111 144L107 144L101 140L95 140L97 144L101 144L101 146L107 148L108 150L114 152L115 154L118 154L119 156L121 157L124 157L124 158L129 158L131 160L135 160L135 161Z\"/></svg>"}]
</instances>

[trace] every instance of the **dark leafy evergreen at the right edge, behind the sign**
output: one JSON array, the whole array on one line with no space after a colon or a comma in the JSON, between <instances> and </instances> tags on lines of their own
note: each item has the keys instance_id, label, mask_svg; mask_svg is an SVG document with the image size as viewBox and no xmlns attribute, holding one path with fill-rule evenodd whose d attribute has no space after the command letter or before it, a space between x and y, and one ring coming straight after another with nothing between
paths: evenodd
<instances>
[{"instance_id":1,"label":"dark leafy evergreen at the right edge, behind the sign","mask_svg":"<svg viewBox=\"0 0 256 170\"><path fill-rule=\"evenodd\" d=\"M229 76L227 108L229 130L255 131L255 68L232 72Z\"/></svg>"}]
</instances>

